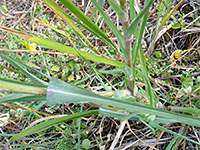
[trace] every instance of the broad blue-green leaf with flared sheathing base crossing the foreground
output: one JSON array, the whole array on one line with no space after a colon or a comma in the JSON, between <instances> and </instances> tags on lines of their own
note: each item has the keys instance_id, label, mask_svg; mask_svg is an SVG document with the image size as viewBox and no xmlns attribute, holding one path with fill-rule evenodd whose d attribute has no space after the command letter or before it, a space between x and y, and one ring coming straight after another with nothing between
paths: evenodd
<instances>
[{"instance_id":1,"label":"broad blue-green leaf with flared sheathing base crossing the foreground","mask_svg":"<svg viewBox=\"0 0 200 150\"><path fill-rule=\"evenodd\" d=\"M92 102L100 105L109 105L116 108L125 109L130 112L136 111L137 113L141 114L156 115L160 118L172 119L173 121L176 120L176 122L200 127L200 118L197 117L177 114L174 112L146 106L141 103L100 96L85 89L81 89L58 79L52 78L47 89L47 104L60 104L64 102Z\"/></svg>"}]
</instances>

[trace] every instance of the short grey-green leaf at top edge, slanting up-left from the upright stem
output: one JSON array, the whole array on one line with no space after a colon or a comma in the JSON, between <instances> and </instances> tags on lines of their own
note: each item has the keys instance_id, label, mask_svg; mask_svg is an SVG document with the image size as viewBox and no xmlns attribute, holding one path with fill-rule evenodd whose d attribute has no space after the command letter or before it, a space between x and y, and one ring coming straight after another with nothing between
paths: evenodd
<instances>
[{"instance_id":1,"label":"short grey-green leaf at top edge, slanting up-left from the upright stem","mask_svg":"<svg viewBox=\"0 0 200 150\"><path fill-rule=\"evenodd\" d=\"M126 19L126 14L124 11L120 8L120 6L117 4L115 0L108 0L110 6L112 9L116 12L120 20L125 20Z\"/></svg>"}]
</instances>

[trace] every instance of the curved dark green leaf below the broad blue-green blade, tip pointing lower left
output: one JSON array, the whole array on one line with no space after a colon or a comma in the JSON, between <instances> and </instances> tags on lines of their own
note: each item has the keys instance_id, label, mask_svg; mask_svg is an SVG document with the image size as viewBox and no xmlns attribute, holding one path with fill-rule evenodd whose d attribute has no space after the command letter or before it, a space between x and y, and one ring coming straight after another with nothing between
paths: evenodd
<instances>
[{"instance_id":1,"label":"curved dark green leaf below the broad blue-green blade, tip pointing lower left","mask_svg":"<svg viewBox=\"0 0 200 150\"><path fill-rule=\"evenodd\" d=\"M31 135L31 134L34 134L34 133L41 132L41 131L46 130L46 129L48 129L48 128L50 128L50 127L52 127L52 126L54 126L58 123L66 122L66 121L73 120L73 119L78 119L80 117L91 116L91 115L95 115L95 114L98 114L98 111L97 110L91 110L91 111L71 114L71 115L68 115L68 116L61 117L61 118L55 118L53 120L48 120L46 122L37 124L37 125L35 125L31 128L23 130L19 134L13 136L9 140L9 142L13 142L15 140L21 139L21 138L23 138L27 135Z\"/></svg>"}]
</instances>

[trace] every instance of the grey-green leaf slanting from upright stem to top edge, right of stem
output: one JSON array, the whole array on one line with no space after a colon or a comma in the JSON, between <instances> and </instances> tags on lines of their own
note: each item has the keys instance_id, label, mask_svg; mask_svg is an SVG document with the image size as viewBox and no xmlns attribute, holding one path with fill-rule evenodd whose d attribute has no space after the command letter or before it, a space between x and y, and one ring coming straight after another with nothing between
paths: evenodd
<instances>
[{"instance_id":1,"label":"grey-green leaf slanting from upright stem to top edge, right of stem","mask_svg":"<svg viewBox=\"0 0 200 150\"><path fill-rule=\"evenodd\" d=\"M148 1L148 2L147 2ZM140 19L149 11L149 8L153 4L154 0L146 0L147 2L146 6L142 9L142 11L137 15L137 17L134 18L134 20L131 22L130 27L127 31L127 38L130 39L132 34L134 33L136 27L138 26L138 23Z\"/></svg>"}]
</instances>

